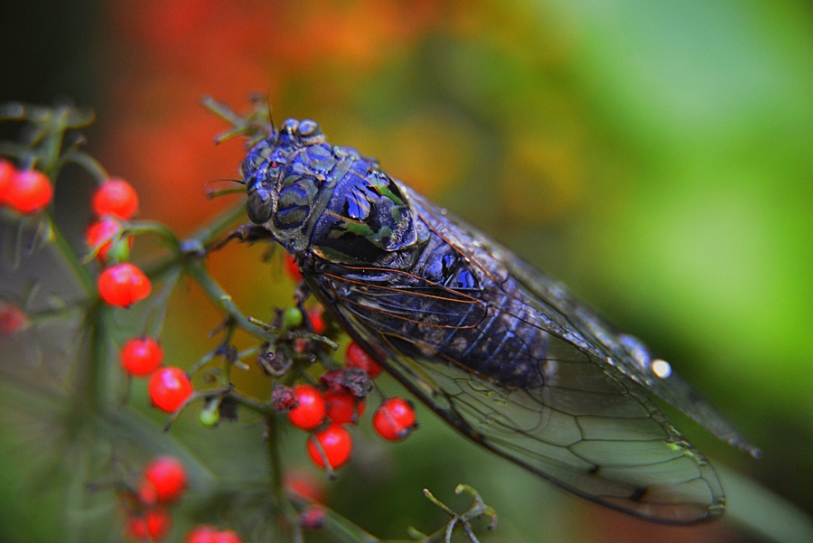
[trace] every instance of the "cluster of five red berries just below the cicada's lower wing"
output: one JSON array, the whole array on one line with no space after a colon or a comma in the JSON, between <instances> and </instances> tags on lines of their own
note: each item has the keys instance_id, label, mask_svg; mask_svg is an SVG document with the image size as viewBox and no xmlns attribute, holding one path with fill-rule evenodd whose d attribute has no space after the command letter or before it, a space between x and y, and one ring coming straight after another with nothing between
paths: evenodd
<instances>
[{"instance_id":1,"label":"cluster of five red berries just below the cicada's lower wing","mask_svg":"<svg viewBox=\"0 0 813 543\"><path fill-rule=\"evenodd\" d=\"M381 367L360 346L351 342L345 352L346 367L363 370L375 379ZM308 440L308 455L321 468L337 469L350 460L352 437L347 425L354 425L364 413L365 402L349 389L327 382L327 390L313 385L293 389L295 403L288 411L291 424L313 431ZM385 400L373 415L373 427L382 437L397 441L416 428L415 409L403 398Z\"/></svg>"}]
</instances>

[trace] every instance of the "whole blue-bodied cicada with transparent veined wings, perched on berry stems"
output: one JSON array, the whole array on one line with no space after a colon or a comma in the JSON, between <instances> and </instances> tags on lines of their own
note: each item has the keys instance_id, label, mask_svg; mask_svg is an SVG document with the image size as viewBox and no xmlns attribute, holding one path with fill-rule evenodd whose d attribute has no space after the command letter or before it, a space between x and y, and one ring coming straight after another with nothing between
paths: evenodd
<instances>
[{"instance_id":1,"label":"whole blue-bodied cicada with transparent veined wings, perched on berry stems","mask_svg":"<svg viewBox=\"0 0 813 543\"><path fill-rule=\"evenodd\" d=\"M383 172L287 119L241 165L251 225L406 389L472 441L614 510L719 517L706 457L649 395L756 456L664 360L561 283Z\"/></svg>"}]
</instances>

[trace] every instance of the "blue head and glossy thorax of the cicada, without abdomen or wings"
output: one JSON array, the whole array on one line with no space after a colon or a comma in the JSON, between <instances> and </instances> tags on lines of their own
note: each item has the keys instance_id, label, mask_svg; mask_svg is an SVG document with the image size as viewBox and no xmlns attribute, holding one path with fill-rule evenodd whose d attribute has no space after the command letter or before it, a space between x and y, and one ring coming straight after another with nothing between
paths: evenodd
<instances>
[{"instance_id":1,"label":"blue head and glossy thorax of the cicada, without abdomen or wings","mask_svg":"<svg viewBox=\"0 0 813 543\"><path fill-rule=\"evenodd\" d=\"M287 119L241 168L248 218L289 252L373 264L426 238L398 183L355 149L328 144L311 120Z\"/></svg>"}]
</instances>

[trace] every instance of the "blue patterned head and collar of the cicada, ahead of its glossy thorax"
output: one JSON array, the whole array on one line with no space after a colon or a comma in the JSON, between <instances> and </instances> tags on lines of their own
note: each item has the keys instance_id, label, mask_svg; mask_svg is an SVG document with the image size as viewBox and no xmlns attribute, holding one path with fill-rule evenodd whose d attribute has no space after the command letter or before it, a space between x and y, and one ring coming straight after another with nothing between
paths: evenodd
<instances>
[{"instance_id":1,"label":"blue patterned head and collar of the cicada, ahead of its glossy thorax","mask_svg":"<svg viewBox=\"0 0 813 543\"><path fill-rule=\"evenodd\" d=\"M318 124L287 119L276 134L251 148L240 166L248 218L265 225L288 251L304 250L313 218L330 198L336 163Z\"/></svg>"}]
</instances>

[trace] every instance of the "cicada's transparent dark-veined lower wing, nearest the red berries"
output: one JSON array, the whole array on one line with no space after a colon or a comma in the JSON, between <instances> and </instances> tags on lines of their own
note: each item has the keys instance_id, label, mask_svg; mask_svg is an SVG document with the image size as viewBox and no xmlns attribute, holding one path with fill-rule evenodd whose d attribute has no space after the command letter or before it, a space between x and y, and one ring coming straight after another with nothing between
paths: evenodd
<instances>
[{"instance_id":1,"label":"cicada's transparent dark-veined lower wing, nearest the red berries","mask_svg":"<svg viewBox=\"0 0 813 543\"><path fill-rule=\"evenodd\" d=\"M546 355L536 360L541 384L490 379L440 355L443 334L406 335L399 323L426 319L438 330L499 341L483 323L514 322L516 314L495 305L475 311L467 296L440 286L360 286L363 275L353 269L311 280L350 335L464 435L570 492L645 519L691 524L722 514L711 466L631 379L546 331ZM351 290L343 289L347 276Z\"/></svg>"}]
</instances>

